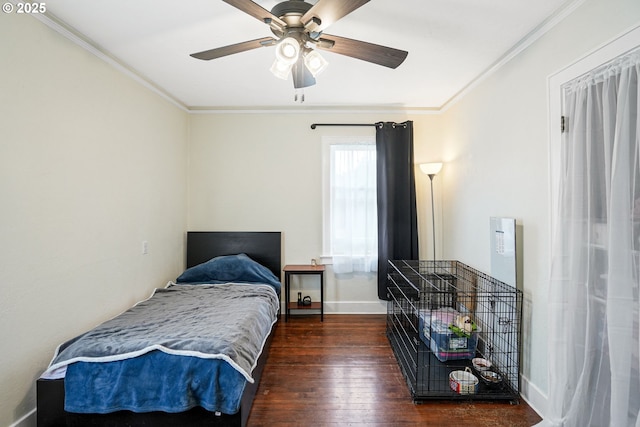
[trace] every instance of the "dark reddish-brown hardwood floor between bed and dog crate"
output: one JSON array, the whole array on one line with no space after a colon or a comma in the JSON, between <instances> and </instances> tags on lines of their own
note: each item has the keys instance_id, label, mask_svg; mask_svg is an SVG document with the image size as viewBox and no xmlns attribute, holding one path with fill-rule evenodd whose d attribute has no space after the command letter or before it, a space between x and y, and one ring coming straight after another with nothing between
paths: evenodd
<instances>
[{"instance_id":1,"label":"dark reddish-brown hardwood floor between bed and dog crate","mask_svg":"<svg viewBox=\"0 0 640 427\"><path fill-rule=\"evenodd\" d=\"M523 400L414 404L384 315L295 316L274 335L249 426L532 426Z\"/></svg>"}]
</instances>

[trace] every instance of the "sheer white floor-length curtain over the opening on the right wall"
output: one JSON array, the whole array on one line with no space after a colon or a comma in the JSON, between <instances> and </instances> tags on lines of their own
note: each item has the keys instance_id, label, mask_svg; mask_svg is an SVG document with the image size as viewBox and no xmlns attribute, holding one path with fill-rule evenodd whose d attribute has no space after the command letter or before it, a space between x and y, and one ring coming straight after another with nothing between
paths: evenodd
<instances>
[{"instance_id":1,"label":"sheer white floor-length curtain over the opening on the right wall","mask_svg":"<svg viewBox=\"0 0 640 427\"><path fill-rule=\"evenodd\" d=\"M640 50L563 87L545 425L640 426Z\"/></svg>"}]
</instances>

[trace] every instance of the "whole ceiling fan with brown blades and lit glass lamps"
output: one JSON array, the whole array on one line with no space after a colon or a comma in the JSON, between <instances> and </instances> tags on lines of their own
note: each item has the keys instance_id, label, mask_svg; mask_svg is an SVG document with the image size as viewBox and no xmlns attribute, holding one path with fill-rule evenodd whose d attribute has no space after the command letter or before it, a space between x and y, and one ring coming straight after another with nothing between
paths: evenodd
<instances>
[{"instance_id":1,"label":"whole ceiling fan with brown blades and lit glass lamps","mask_svg":"<svg viewBox=\"0 0 640 427\"><path fill-rule=\"evenodd\" d=\"M293 77L294 88L316 83L315 77L327 66L318 50L334 52L389 68L397 68L408 52L345 37L324 34L324 30L369 0L286 0L271 11L251 0L223 0L225 3L267 24L274 37L263 37L229 46L191 54L211 60L259 47L276 47L276 60L271 72L282 79Z\"/></svg>"}]
</instances>

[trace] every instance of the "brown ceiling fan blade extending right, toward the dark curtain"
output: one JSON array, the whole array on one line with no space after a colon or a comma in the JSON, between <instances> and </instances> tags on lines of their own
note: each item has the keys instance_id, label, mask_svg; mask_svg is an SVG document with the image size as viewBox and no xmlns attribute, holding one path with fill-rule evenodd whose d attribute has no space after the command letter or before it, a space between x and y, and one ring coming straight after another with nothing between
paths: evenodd
<instances>
[{"instance_id":1,"label":"brown ceiling fan blade extending right, toward the dark curtain","mask_svg":"<svg viewBox=\"0 0 640 427\"><path fill-rule=\"evenodd\" d=\"M333 42L333 46L330 47L331 43L322 43L323 40ZM339 53L340 55L350 56L389 68L397 68L409 54L404 50L329 34L322 34L319 41L320 43L316 45L318 49Z\"/></svg>"}]
</instances>

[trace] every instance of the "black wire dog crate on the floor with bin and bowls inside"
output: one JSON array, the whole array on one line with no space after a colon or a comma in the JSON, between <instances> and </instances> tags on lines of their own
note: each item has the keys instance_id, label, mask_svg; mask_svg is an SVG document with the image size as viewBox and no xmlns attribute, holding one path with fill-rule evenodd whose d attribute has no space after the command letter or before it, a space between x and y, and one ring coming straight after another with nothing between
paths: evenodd
<instances>
[{"instance_id":1,"label":"black wire dog crate on the floor with bin and bowls inside","mask_svg":"<svg viewBox=\"0 0 640 427\"><path fill-rule=\"evenodd\" d=\"M522 292L458 261L389 261L387 337L414 401L519 401Z\"/></svg>"}]
</instances>

